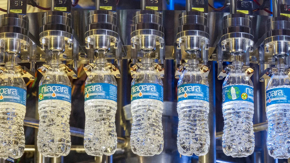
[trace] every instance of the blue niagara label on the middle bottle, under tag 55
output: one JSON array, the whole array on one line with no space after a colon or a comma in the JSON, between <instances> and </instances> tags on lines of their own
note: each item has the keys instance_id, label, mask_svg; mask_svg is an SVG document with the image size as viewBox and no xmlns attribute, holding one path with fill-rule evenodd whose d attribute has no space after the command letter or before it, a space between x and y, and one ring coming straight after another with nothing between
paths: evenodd
<instances>
[{"instance_id":1,"label":"blue niagara label on the middle bottle, under tag 55","mask_svg":"<svg viewBox=\"0 0 290 163\"><path fill-rule=\"evenodd\" d=\"M136 99L157 99L163 102L163 86L153 83L139 83L131 86L131 101Z\"/></svg>"}]
</instances>

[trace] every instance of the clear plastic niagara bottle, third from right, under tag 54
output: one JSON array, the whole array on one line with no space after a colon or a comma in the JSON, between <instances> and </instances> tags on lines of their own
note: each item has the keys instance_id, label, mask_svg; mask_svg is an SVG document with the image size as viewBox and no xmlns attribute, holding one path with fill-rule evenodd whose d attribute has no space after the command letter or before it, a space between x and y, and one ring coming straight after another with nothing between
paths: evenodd
<instances>
[{"instance_id":1,"label":"clear plastic niagara bottle, third from right, under tag 54","mask_svg":"<svg viewBox=\"0 0 290 163\"><path fill-rule=\"evenodd\" d=\"M205 155L209 151L209 84L196 59L188 60L189 66L177 84L178 133L177 148L182 155Z\"/></svg>"}]
</instances>

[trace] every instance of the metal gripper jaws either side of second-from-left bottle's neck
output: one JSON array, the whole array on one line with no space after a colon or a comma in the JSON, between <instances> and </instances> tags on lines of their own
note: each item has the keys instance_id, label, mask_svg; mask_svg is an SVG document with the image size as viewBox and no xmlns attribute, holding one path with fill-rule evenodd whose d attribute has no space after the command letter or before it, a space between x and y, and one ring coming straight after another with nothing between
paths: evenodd
<instances>
[{"instance_id":1,"label":"metal gripper jaws either side of second-from-left bottle's neck","mask_svg":"<svg viewBox=\"0 0 290 163\"><path fill-rule=\"evenodd\" d=\"M77 79L77 71L73 68L72 65L66 65L66 64L59 64L61 66L61 69L64 70L66 75L72 77L73 79ZM50 68L49 64L43 64L40 66L37 70L44 75L46 71Z\"/></svg>"}]
</instances>

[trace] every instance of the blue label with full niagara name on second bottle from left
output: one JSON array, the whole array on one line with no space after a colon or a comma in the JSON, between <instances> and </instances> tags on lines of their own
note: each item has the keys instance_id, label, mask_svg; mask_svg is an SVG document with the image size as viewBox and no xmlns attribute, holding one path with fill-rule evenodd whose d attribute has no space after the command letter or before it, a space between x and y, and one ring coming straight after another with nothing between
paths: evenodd
<instances>
[{"instance_id":1,"label":"blue label with full niagara name on second bottle from left","mask_svg":"<svg viewBox=\"0 0 290 163\"><path fill-rule=\"evenodd\" d=\"M63 84L44 84L39 86L38 102L47 99L63 100L71 103L71 88Z\"/></svg>"}]
</instances>

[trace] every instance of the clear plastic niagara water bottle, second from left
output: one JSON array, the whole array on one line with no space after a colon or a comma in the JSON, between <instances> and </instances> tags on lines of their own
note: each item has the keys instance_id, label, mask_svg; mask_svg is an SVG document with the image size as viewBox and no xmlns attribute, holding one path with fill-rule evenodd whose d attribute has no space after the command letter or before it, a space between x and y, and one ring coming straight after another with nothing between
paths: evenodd
<instances>
[{"instance_id":1,"label":"clear plastic niagara water bottle, second from left","mask_svg":"<svg viewBox=\"0 0 290 163\"><path fill-rule=\"evenodd\" d=\"M71 84L60 64L51 60L39 82L37 148L45 157L66 156L71 146Z\"/></svg>"}]
</instances>

